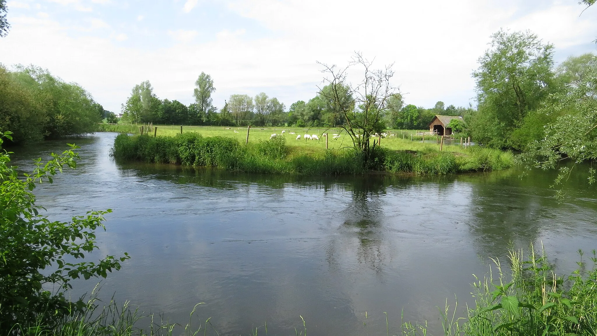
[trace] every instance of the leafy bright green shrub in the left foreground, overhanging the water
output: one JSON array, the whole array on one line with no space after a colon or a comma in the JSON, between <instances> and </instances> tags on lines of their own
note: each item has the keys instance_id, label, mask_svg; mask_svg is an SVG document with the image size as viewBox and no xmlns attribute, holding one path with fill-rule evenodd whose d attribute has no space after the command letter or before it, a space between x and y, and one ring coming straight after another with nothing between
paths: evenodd
<instances>
[{"instance_id":1,"label":"leafy bright green shrub in the left foreground, overhanging the water","mask_svg":"<svg viewBox=\"0 0 597 336\"><path fill-rule=\"evenodd\" d=\"M79 158L74 150L79 147L69 145L62 154L51 154L47 162L39 158L33 172L21 175L10 166L12 152L2 149L2 138L11 139L10 135L0 132L0 330L19 334L31 325L51 328L84 307L81 300L72 303L64 297L64 291L72 288L70 280L105 278L130 257L124 253L97 262L76 262L98 248L95 230L106 230L103 216L112 210L89 211L69 222L41 215L44 208L35 204L32 191L37 184L52 183L64 167L74 169Z\"/></svg>"}]
</instances>

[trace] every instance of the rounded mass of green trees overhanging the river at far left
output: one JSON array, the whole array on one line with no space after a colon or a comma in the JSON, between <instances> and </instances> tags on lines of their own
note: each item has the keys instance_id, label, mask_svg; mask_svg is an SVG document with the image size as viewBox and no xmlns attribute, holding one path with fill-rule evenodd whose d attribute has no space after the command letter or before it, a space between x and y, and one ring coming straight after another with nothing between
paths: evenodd
<instances>
[{"instance_id":1,"label":"rounded mass of green trees overhanging the river at far left","mask_svg":"<svg viewBox=\"0 0 597 336\"><path fill-rule=\"evenodd\" d=\"M94 132L107 111L76 83L36 66L0 65L0 128L13 143Z\"/></svg>"}]
</instances>

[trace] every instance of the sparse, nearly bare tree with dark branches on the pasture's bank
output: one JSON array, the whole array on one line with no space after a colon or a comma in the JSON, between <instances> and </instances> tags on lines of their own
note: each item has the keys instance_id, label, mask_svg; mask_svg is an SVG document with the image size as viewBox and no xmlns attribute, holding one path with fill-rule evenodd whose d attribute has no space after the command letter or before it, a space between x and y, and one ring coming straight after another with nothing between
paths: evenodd
<instances>
[{"instance_id":1,"label":"sparse, nearly bare tree with dark branches on the pasture's bank","mask_svg":"<svg viewBox=\"0 0 597 336\"><path fill-rule=\"evenodd\" d=\"M352 139L356 151L363 155L364 163L373 159L375 139L371 145L372 136L380 135L385 129L384 115L390 106L390 99L399 94L399 89L390 84L394 72L392 65L383 69L373 69L373 61L365 59L361 53L356 53L346 68L336 65L324 66L323 83L326 90L319 88L319 94L331 102L331 112L344 122L336 127L342 129ZM357 85L349 83L347 72L352 66L363 69L363 79Z\"/></svg>"}]
</instances>

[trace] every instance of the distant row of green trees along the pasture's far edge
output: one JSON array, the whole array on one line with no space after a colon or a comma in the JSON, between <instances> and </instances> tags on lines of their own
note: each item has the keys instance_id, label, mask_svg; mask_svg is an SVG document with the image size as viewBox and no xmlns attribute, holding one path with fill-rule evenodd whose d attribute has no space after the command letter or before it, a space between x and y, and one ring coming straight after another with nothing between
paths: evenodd
<instances>
[{"instance_id":1,"label":"distant row of green trees along the pasture's far edge","mask_svg":"<svg viewBox=\"0 0 597 336\"><path fill-rule=\"evenodd\" d=\"M159 99L149 81L137 84L127 102L122 104L123 123L185 124L210 126L339 126L345 118L334 109L329 99L331 85L326 85L307 102L298 100L288 110L276 97L261 92L254 97L232 94L221 109L213 105L211 94L216 91L214 81L204 72L195 81L195 102L184 105L178 100ZM343 87L341 99L352 101L352 93ZM384 111L384 125L392 129L426 129L433 116L464 115L472 108L456 108L437 102L433 108L405 105L401 94L390 97L389 108ZM108 122L115 116L109 115Z\"/></svg>"}]
</instances>

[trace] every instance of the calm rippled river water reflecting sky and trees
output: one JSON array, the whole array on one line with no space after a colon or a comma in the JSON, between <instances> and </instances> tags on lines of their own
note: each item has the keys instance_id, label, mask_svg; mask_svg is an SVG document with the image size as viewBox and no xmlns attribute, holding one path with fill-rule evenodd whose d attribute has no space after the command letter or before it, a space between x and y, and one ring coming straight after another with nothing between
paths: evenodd
<instances>
[{"instance_id":1,"label":"calm rippled river water reflecting sky and trees","mask_svg":"<svg viewBox=\"0 0 597 336\"><path fill-rule=\"evenodd\" d=\"M81 146L79 167L36 188L51 219L113 209L88 259L131 259L101 282L140 310L187 323L211 317L220 335L385 334L404 320L439 334L445 300L470 303L472 274L509 246L543 243L561 271L597 248L597 193L586 176L558 203L554 172L458 176L293 177L116 163L116 133L15 148L13 164ZM71 295L97 282L77 281Z\"/></svg>"}]
</instances>

